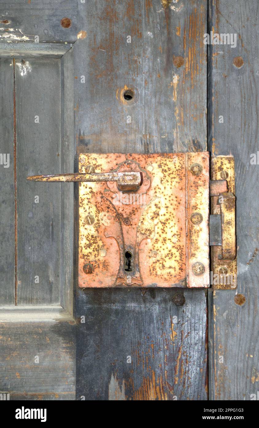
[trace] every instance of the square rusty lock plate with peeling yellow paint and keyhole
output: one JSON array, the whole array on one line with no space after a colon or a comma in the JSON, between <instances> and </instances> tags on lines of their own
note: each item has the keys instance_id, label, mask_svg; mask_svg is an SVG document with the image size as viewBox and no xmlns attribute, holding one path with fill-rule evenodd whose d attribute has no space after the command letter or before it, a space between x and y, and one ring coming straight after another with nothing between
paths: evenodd
<instances>
[{"instance_id":1,"label":"square rusty lock plate with peeling yellow paint and keyhole","mask_svg":"<svg viewBox=\"0 0 259 428\"><path fill-rule=\"evenodd\" d=\"M209 287L209 153L80 154L79 287ZM80 181L80 180L78 180Z\"/></svg>"}]
</instances>

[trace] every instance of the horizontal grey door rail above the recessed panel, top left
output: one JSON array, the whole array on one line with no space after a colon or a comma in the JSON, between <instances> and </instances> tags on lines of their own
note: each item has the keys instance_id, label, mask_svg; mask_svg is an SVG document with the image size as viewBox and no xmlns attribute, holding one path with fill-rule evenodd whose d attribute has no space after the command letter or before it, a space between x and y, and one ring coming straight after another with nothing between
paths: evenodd
<instances>
[{"instance_id":1,"label":"horizontal grey door rail above the recessed panel, top left","mask_svg":"<svg viewBox=\"0 0 259 428\"><path fill-rule=\"evenodd\" d=\"M0 41L69 42L77 40L77 0L1 0ZM71 19L63 28L62 18Z\"/></svg>"}]
</instances>

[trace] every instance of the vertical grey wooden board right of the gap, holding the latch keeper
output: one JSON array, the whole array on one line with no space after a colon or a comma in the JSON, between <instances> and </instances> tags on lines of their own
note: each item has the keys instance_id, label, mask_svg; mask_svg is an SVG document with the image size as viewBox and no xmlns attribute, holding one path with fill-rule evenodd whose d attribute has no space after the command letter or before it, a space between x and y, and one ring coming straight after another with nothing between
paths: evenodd
<instances>
[{"instance_id":1,"label":"vertical grey wooden board right of the gap, holding the latch keeper","mask_svg":"<svg viewBox=\"0 0 259 428\"><path fill-rule=\"evenodd\" d=\"M259 386L259 166L250 164L258 150L258 2L211 3L211 29L237 33L236 48L211 47L208 113L209 149L235 158L238 276L236 291L209 293L209 396L250 400ZM235 294L245 296L244 305Z\"/></svg>"}]
</instances>

